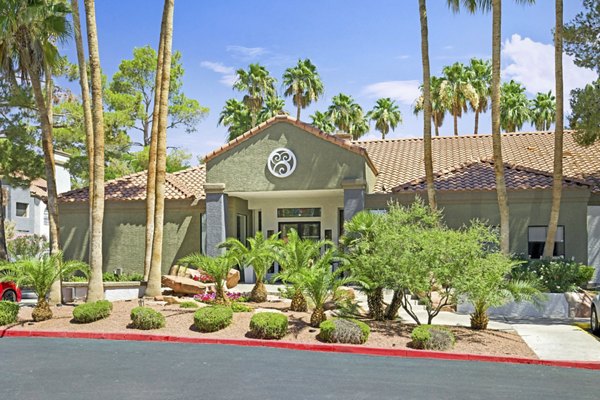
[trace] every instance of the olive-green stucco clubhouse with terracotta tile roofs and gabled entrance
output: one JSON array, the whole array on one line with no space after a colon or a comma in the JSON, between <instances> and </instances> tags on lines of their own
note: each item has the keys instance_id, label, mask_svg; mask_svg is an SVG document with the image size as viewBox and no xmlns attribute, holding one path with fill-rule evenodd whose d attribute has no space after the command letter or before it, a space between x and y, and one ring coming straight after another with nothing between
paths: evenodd
<instances>
[{"instance_id":1,"label":"olive-green stucco clubhouse with terracotta tile roofs and gabled entrance","mask_svg":"<svg viewBox=\"0 0 600 400\"><path fill-rule=\"evenodd\" d=\"M539 258L552 199L552 132L502 136L511 251ZM439 207L450 227L474 218L499 225L489 135L433 139ZM208 154L204 164L167 174L163 270L181 257L218 253L228 237L291 228L337 242L344 221L383 212L390 200L426 199L422 139L352 141L277 116ZM600 268L600 145L565 132L563 195L554 253ZM146 173L106 182L104 268L141 272ZM87 258L88 189L60 196L66 257ZM251 282L252 274L243 274ZM597 274L598 275L598 274ZM600 276L594 278L600 281Z\"/></svg>"}]
</instances>

